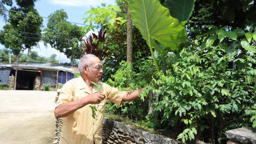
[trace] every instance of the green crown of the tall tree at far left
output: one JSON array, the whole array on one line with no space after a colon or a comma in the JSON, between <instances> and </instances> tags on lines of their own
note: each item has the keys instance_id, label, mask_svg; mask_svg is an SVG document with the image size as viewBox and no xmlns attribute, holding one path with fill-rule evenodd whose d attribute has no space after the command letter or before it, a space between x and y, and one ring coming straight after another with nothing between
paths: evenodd
<instances>
[{"instance_id":1,"label":"green crown of the tall tree at far left","mask_svg":"<svg viewBox=\"0 0 256 144\"><path fill-rule=\"evenodd\" d=\"M37 42L41 39L40 27L43 18L34 16L39 15L37 10L33 8L34 1L35 0L30 0L30 2L17 0L18 8L14 6L10 9L12 11L9 12L10 17L8 24L6 24L0 32L0 43L8 48L12 54L16 55L16 63L18 63L21 55L20 52L37 45ZM9 1L5 1L5 3L11 4ZM31 39L31 37L33 39Z\"/></svg>"}]
</instances>

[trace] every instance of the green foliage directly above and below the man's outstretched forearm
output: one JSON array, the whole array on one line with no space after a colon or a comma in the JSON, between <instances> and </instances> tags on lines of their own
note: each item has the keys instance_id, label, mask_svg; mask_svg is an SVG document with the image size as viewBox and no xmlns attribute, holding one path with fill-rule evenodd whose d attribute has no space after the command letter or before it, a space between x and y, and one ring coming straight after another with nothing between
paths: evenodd
<instances>
[{"instance_id":1,"label":"green foliage directly above and below the man's outstretched forearm","mask_svg":"<svg viewBox=\"0 0 256 144\"><path fill-rule=\"evenodd\" d=\"M134 69L131 65L128 65L127 62L120 62L121 68L111 76L114 81L109 78L107 84L116 87L119 90L128 88L125 91L145 87L152 80L154 74L152 72L154 63L152 60L145 60L145 58L143 58L137 64L138 65L136 65L136 68L139 70L138 73L136 73L136 69ZM106 112L127 116L130 119L141 120L147 115L147 100L148 98L145 98L144 101L140 99L125 101L121 106L107 101Z\"/></svg>"}]
</instances>

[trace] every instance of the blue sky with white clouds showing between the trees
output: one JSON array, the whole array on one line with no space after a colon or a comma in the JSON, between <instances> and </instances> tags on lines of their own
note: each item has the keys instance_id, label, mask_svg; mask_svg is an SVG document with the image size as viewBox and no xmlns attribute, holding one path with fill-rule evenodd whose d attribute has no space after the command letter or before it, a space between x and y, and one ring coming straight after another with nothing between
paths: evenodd
<instances>
[{"instance_id":1,"label":"blue sky with white clouds showing between the trees","mask_svg":"<svg viewBox=\"0 0 256 144\"><path fill-rule=\"evenodd\" d=\"M34 8L37 9L38 13L42 17L48 17L51 13L54 13L56 10L63 9L68 15L67 21L84 24L83 18L88 16L88 14L84 15L84 13L90 10L90 6L100 6L101 2L106 3L106 5L115 5L115 0L37 0L35 2ZM13 0L13 3L16 4L15 0ZM6 5L5 8L10 9L10 7ZM46 27L47 25L47 20L47 18L43 18L44 27ZM76 25L83 26L79 24ZM0 19L0 28L2 29L4 25L5 22L2 21L2 19ZM68 59L63 53L59 53L49 44L47 44L47 47L45 47L43 42L39 42L39 47L35 46L31 49L31 51L37 51L40 56L45 56L47 58L52 54L56 54L56 59L60 59L61 63L70 63L70 59ZM3 48L4 46L0 44L0 49ZM25 50L24 54L27 53L28 51Z\"/></svg>"}]
</instances>

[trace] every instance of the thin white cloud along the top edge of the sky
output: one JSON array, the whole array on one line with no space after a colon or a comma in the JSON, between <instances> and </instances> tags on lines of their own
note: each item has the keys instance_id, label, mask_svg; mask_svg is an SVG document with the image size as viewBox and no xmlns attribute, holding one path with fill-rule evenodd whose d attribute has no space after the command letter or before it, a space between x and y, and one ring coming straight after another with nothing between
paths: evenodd
<instances>
[{"instance_id":1,"label":"thin white cloud along the top edge of the sky","mask_svg":"<svg viewBox=\"0 0 256 144\"><path fill-rule=\"evenodd\" d=\"M48 0L52 4L60 4L67 6L99 6L101 3L106 3L106 5L115 5L115 0Z\"/></svg>"}]
</instances>

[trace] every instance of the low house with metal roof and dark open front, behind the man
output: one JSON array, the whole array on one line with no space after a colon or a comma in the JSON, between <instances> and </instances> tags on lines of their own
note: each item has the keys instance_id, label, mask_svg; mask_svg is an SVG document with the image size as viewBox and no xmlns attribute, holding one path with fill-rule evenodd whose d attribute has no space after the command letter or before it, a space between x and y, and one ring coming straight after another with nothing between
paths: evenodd
<instances>
[{"instance_id":1,"label":"low house with metal roof and dark open front, behind the man","mask_svg":"<svg viewBox=\"0 0 256 144\"><path fill-rule=\"evenodd\" d=\"M8 85L8 89L35 90L45 83L58 88L58 83L65 84L78 72L77 66L52 63L0 63L0 83Z\"/></svg>"}]
</instances>

